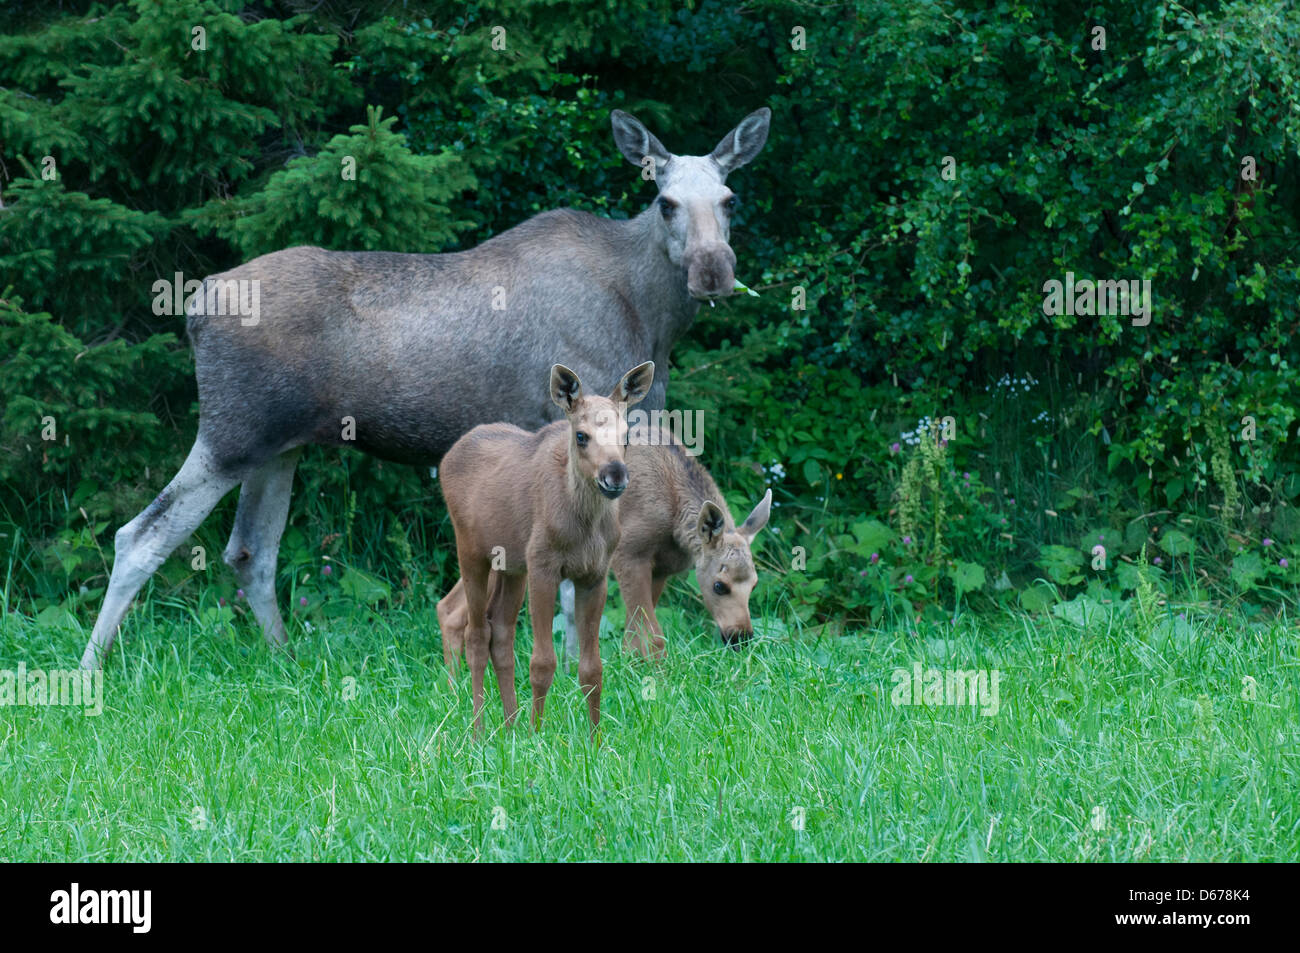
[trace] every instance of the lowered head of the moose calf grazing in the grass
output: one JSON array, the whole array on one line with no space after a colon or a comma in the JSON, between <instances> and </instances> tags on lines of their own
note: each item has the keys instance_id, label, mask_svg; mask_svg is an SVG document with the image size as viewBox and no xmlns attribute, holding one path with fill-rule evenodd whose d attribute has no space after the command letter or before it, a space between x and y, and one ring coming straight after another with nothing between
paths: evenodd
<instances>
[{"instance_id":1,"label":"lowered head of the moose calf grazing in the grass","mask_svg":"<svg viewBox=\"0 0 1300 953\"><path fill-rule=\"evenodd\" d=\"M732 530L727 529L723 511L715 503L707 502L699 508L698 532L703 546L696 559L696 579L723 641L732 646L749 641L754 634L749 595L758 582L758 572L749 546L758 530L767 525L771 512L771 490L749 517Z\"/></svg>"}]
</instances>

